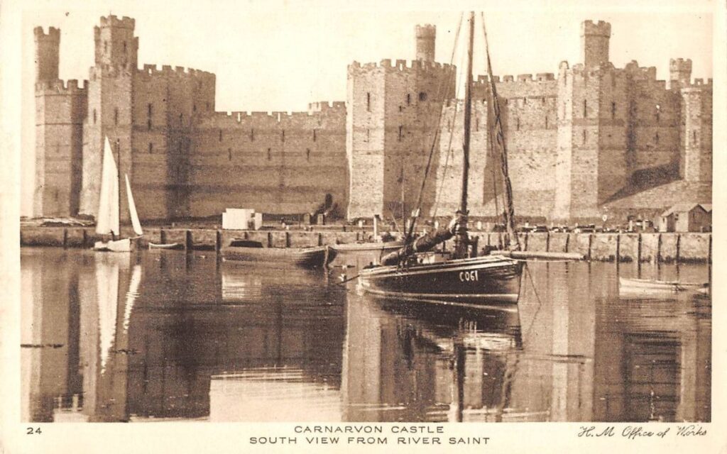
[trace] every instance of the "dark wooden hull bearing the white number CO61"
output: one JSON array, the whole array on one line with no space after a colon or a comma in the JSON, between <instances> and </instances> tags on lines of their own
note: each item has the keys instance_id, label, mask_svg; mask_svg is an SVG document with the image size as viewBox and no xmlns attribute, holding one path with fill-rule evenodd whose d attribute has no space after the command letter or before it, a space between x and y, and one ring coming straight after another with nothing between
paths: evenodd
<instances>
[{"instance_id":1,"label":"dark wooden hull bearing the white number CO61","mask_svg":"<svg viewBox=\"0 0 727 454\"><path fill-rule=\"evenodd\" d=\"M522 262L502 256L361 270L364 291L415 301L497 306L518 301Z\"/></svg>"}]
</instances>

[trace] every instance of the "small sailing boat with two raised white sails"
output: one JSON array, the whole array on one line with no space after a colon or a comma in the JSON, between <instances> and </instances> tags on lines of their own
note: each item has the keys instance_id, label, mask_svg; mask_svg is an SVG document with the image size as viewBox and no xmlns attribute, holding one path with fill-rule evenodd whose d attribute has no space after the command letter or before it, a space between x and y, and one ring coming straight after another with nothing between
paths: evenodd
<instances>
[{"instance_id":1,"label":"small sailing boat with two raised white sails","mask_svg":"<svg viewBox=\"0 0 727 454\"><path fill-rule=\"evenodd\" d=\"M129 204L129 214L132 219L134 238L139 238L143 231L139 222L139 215L134 204L134 196L132 195L132 187L129 184L129 175L124 174L126 179L126 198ZM96 233L98 235L111 235L111 240L97 241L93 248L95 251L110 252L131 252L132 239L119 238L119 211L121 199L119 194L119 168L116 166L116 160L111 152L111 143L106 137L103 147L103 164L101 167L101 195L98 206L98 217L96 220Z\"/></svg>"}]
</instances>

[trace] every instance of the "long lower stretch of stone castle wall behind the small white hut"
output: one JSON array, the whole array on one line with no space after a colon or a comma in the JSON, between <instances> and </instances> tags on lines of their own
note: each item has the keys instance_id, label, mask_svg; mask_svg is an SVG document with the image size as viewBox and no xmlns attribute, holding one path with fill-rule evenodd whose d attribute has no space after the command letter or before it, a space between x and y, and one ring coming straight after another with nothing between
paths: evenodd
<instances>
[{"instance_id":1,"label":"long lower stretch of stone castle wall behind the small white hut","mask_svg":"<svg viewBox=\"0 0 727 454\"><path fill-rule=\"evenodd\" d=\"M343 102L314 103L308 112L201 116L189 155L189 212L312 213L327 194L345 210L345 118Z\"/></svg>"}]
</instances>

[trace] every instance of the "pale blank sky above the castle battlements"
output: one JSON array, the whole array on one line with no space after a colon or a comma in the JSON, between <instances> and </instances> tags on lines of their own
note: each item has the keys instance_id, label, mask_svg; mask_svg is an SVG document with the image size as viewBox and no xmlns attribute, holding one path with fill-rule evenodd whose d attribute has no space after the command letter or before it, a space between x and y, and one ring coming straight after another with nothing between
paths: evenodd
<instances>
[{"instance_id":1,"label":"pale blank sky above the castle battlements","mask_svg":"<svg viewBox=\"0 0 727 454\"><path fill-rule=\"evenodd\" d=\"M668 7L664 6L668 3ZM32 212L34 158L33 27L61 30L60 78L88 78L93 27L109 13L134 17L139 65L184 66L217 75L217 110L305 110L308 102L343 101L346 67L414 58L414 26L437 26L436 60L450 62L461 6L401 7L382 2L40 1L23 12L21 214ZM98 5L98 6L97 6ZM344 5L344 6L341 6ZM669 77L669 59L691 58L693 77L712 77L712 4L708 1L478 1L484 8L495 74L557 73L580 62L580 23L611 23L611 62L637 60ZM372 7L373 6L373 7ZM504 9L507 7L507 9ZM419 9L419 10L416 10ZM464 28L464 25L463 25ZM464 31L462 32L464 33ZM475 38L476 57L481 29ZM461 38L460 44L463 43ZM460 47L462 47L460 45ZM460 68L462 52L454 57Z\"/></svg>"}]
</instances>

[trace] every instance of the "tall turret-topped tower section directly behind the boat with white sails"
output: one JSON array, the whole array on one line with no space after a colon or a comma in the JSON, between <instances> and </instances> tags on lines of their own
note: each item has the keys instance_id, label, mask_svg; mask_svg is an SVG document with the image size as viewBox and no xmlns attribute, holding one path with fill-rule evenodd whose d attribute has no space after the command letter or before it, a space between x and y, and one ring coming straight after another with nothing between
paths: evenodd
<instances>
[{"instance_id":1,"label":"tall turret-topped tower section directly behind the boat with white sails","mask_svg":"<svg viewBox=\"0 0 727 454\"><path fill-rule=\"evenodd\" d=\"M132 93L139 44L134 37L134 20L129 17L101 17L94 38L96 65L89 70L80 207L81 213L92 216L98 211L105 137L111 142L119 174L128 174L133 184ZM122 195L121 221L128 220L126 197Z\"/></svg>"}]
</instances>

